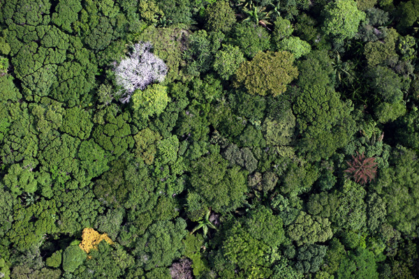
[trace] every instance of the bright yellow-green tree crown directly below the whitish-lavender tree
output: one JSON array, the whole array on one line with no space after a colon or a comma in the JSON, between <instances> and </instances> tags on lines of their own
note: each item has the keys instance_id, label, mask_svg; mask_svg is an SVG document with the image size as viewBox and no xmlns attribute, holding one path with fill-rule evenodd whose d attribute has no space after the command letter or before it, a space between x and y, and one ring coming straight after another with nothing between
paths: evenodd
<instances>
[{"instance_id":1,"label":"bright yellow-green tree crown directly below the whitish-lavender tree","mask_svg":"<svg viewBox=\"0 0 419 279\"><path fill-rule=\"evenodd\" d=\"M135 90L132 98L133 109L144 119L148 119L149 116L159 116L170 101L167 87L160 84L152 84L145 90Z\"/></svg>"}]
</instances>

